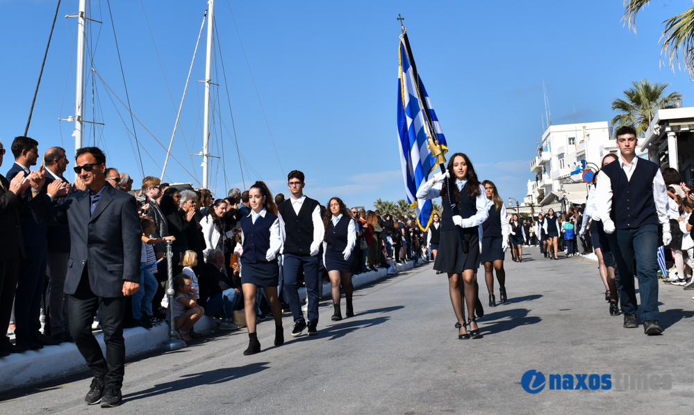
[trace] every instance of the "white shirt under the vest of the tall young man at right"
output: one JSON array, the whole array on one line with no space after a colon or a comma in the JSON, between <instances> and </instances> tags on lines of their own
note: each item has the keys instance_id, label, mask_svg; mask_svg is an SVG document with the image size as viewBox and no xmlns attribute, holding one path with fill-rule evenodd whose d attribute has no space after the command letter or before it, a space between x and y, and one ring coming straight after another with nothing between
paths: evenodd
<instances>
[{"instance_id":1,"label":"white shirt under the vest of the tall young man at right","mask_svg":"<svg viewBox=\"0 0 694 415\"><path fill-rule=\"evenodd\" d=\"M622 170L627 174L627 180L631 181L631 175L634 174L636 170L636 163L638 163L638 157L634 157L631 163L627 163L623 158L622 154L618 156L616 161L613 163L620 163ZM660 169L656 171L656 175L653 179L652 184L653 189L653 200L656 205L656 212L658 213L658 221L663 224L663 231L670 231L670 221L668 220L668 192L665 187L665 180L663 179L663 174ZM595 187L595 211L597 216L602 219L602 222L610 219L610 213L612 212L612 181L610 178L600 170L597 173L597 186Z\"/></svg>"}]
</instances>

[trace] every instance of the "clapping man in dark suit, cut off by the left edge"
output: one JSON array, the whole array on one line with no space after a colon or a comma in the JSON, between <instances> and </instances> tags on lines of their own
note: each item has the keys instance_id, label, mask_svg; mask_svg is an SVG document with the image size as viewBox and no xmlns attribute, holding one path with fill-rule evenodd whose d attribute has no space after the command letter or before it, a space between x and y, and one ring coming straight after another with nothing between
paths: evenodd
<instances>
[{"instance_id":1,"label":"clapping man in dark suit, cut off by the left edge","mask_svg":"<svg viewBox=\"0 0 694 415\"><path fill-rule=\"evenodd\" d=\"M4 154L5 148L0 143L0 165ZM16 174L11 182L0 174L0 357L27 350L11 345L6 333L15 299L19 263L24 257L19 214L24 207L24 193L28 186L24 172Z\"/></svg>"}]
</instances>

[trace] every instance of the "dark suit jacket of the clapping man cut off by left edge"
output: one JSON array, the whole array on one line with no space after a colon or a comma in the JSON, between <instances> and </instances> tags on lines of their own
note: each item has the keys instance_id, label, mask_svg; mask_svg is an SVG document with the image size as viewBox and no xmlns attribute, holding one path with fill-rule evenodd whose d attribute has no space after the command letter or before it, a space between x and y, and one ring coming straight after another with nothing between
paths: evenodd
<instances>
[{"instance_id":1,"label":"dark suit jacket of the clapping man cut off by left edge","mask_svg":"<svg viewBox=\"0 0 694 415\"><path fill-rule=\"evenodd\" d=\"M10 182L2 174L0 181L0 261L24 258L22 225L19 222L24 200L10 192Z\"/></svg>"}]
</instances>

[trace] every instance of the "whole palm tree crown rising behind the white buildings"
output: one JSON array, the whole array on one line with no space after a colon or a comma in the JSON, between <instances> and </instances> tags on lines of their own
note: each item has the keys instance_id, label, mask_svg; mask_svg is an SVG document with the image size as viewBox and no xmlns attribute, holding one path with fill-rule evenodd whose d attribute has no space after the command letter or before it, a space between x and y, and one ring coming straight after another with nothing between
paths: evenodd
<instances>
[{"instance_id":1,"label":"whole palm tree crown rising behind the white buildings","mask_svg":"<svg viewBox=\"0 0 694 415\"><path fill-rule=\"evenodd\" d=\"M641 82L632 81L632 88L625 90L625 99L615 98L612 101L612 111L620 114L612 119L615 130L622 125L636 128L636 136L641 136L648 129L650 121L655 117L659 108L676 108L677 99L682 95L675 91L663 97L665 88L670 83L650 83L646 79Z\"/></svg>"}]
</instances>

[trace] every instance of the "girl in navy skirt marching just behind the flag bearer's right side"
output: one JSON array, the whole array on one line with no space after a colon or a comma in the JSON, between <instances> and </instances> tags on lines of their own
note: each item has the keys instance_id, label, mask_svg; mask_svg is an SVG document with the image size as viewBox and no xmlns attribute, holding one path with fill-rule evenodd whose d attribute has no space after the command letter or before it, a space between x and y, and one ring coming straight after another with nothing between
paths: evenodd
<instances>
[{"instance_id":1,"label":"girl in navy skirt marching just behind the flag bearer's right side","mask_svg":"<svg viewBox=\"0 0 694 415\"><path fill-rule=\"evenodd\" d=\"M488 200L489 217L482 223L482 252L479 260L484 265L484 280L489 293L489 307L496 307L494 297L494 274L499 280L499 302L506 302L506 271L504 257L509 247L510 224L506 222L506 206L499 197L497 186L491 181L482 182Z\"/></svg>"}]
</instances>

